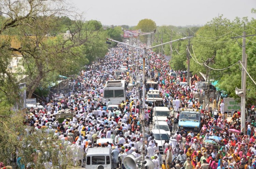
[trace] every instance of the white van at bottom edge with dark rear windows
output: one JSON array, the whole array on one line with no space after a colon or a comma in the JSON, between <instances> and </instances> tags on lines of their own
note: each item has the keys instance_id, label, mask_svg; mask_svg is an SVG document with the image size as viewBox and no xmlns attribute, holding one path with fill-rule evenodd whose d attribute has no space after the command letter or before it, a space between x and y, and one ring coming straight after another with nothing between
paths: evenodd
<instances>
[{"instance_id":1,"label":"white van at bottom edge with dark rear windows","mask_svg":"<svg viewBox=\"0 0 256 169\"><path fill-rule=\"evenodd\" d=\"M111 169L112 156L110 147L89 148L85 158L85 168Z\"/></svg>"}]
</instances>

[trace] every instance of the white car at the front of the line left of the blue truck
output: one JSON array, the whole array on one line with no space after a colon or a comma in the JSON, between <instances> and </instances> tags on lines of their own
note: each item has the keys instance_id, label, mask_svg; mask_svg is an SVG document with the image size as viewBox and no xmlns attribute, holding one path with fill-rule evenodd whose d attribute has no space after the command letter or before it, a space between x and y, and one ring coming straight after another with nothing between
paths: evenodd
<instances>
[{"instance_id":1,"label":"white car at the front of the line left of the blue truck","mask_svg":"<svg viewBox=\"0 0 256 169\"><path fill-rule=\"evenodd\" d=\"M154 140L156 141L156 143L159 146L160 154L164 154L163 153L163 151L164 151L163 150L163 143L165 143L165 140L170 141L170 137L169 137L168 133L165 130L163 130L163 129L152 129L151 133L155 137Z\"/></svg>"}]
</instances>

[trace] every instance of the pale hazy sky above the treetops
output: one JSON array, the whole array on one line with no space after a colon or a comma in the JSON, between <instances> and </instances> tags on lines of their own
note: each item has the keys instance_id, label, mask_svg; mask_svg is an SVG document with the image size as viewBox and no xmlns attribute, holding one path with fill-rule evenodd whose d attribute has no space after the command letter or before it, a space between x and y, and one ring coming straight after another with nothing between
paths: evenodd
<instances>
[{"instance_id":1,"label":"pale hazy sky above the treetops","mask_svg":"<svg viewBox=\"0 0 256 169\"><path fill-rule=\"evenodd\" d=\"M135 26L141 19L152 19L161 25L204 25L221 14L233 20L249 19L256 14L256 0L70 0L86 20L95 19L103 25Z\"/></svg>"}]
</instances>

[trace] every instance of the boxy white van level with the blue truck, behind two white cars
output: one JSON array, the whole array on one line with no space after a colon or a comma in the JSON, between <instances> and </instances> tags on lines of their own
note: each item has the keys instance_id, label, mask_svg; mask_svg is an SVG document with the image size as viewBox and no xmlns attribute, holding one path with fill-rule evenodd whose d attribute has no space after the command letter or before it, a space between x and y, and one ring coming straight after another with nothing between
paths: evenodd
<instances>
[{"instance_id":1,"label":"boxy white van level with the blue truck, behind two white cars","mask_svg":"<svg viewBox=\"0 0 256 169\"><path fill-rule=\"evenodd\" d=\"M153 122L166 121L170 116L170 110L168 107L154 107L153 108Z\"/></svg>"}]
</instances>

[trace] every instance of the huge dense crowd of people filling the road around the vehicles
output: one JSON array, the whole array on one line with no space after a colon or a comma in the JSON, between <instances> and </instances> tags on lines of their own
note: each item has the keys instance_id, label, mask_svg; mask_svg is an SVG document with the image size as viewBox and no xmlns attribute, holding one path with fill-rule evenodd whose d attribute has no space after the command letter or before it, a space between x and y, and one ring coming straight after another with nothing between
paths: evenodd
<instances>
[{"instance_id":1,"label":"huge dense crowd of people filling the road around the vehicles","mask_svg":"<svg viewBox=\"0 0 256 169\"><path fill-rule=\"evenodd\" d=\"M110 147L112 149L112 168L124 169L124 158L128 154L139 157L144 152L145 158L152 159L154 169L253 169L256 156L255 111L254 106L249 109L246 121L247 132L240 132L241 113L234 112L228 120L222 111L223 99L212 107L202 107L198 95L202 91L195 88L195 81L202 79L194 75L191 86L182 86L180 82L187 81L186 71L176 71L178 76L170 74L173 70L168 61L153 51L147 52L148 69L146 78L154 79L158 83L160 97L163 103L173 113L167 117L167 123L174 135L158 145L149 125L145 126L146 139L142 137L141 113L142 98L136 88L127 89L127 99L120 104L120 110L106 111L111 100L103 97L103 87L107 80L114 80L114 71L120 70L122 60L126 60L127 52L124 45L112 48L103 60L85 66L85 70L76 78L70 78L69 89L59 93L49 94L40 99L44 107L40 110L31 108L26 116L26 124L31 131L53 133L60 142L59 147L66 150L53 153L41 160L44 168L66 168L70 163L74 166L85 166L84 159L89 148ZM136 55L135 55L136 56ZM139 58L139 56L138 56ZM131 62L129 61L129 64ZM136 63L139 64L139 61ZM95 65L100 66L95 68ZM131 78L142 80L142 70L132 68L122 73L121 79L127 82ZM213 101L214 102L214 101ZM215 100L216 103L216 100ZM147 106L146 106L147 107ZM202 129L194 133L186 129L178 131L177 121L182 108L200 109ZM217 111L212 111L216 108ZM61 111L69 110L74 113L72 118L59 122L56 116ZM136 113L135 113L135 110ZM145 110L148 124L152 122L152 108ZM97 142L101 138L112 138L111 143ZM145 147L143 149L143 141ZM163 148L163 152L159 151ZM145 151L144 151L145 150ZM39 156L40 151L34 155ZM163 156L161 155L163 154ZM35 169L38 158L33 162L19 164L19 168ZM20 159L17 159L20 162ZM0 164L0 168L3 164Z\"/></svg>"}]
</instances>

